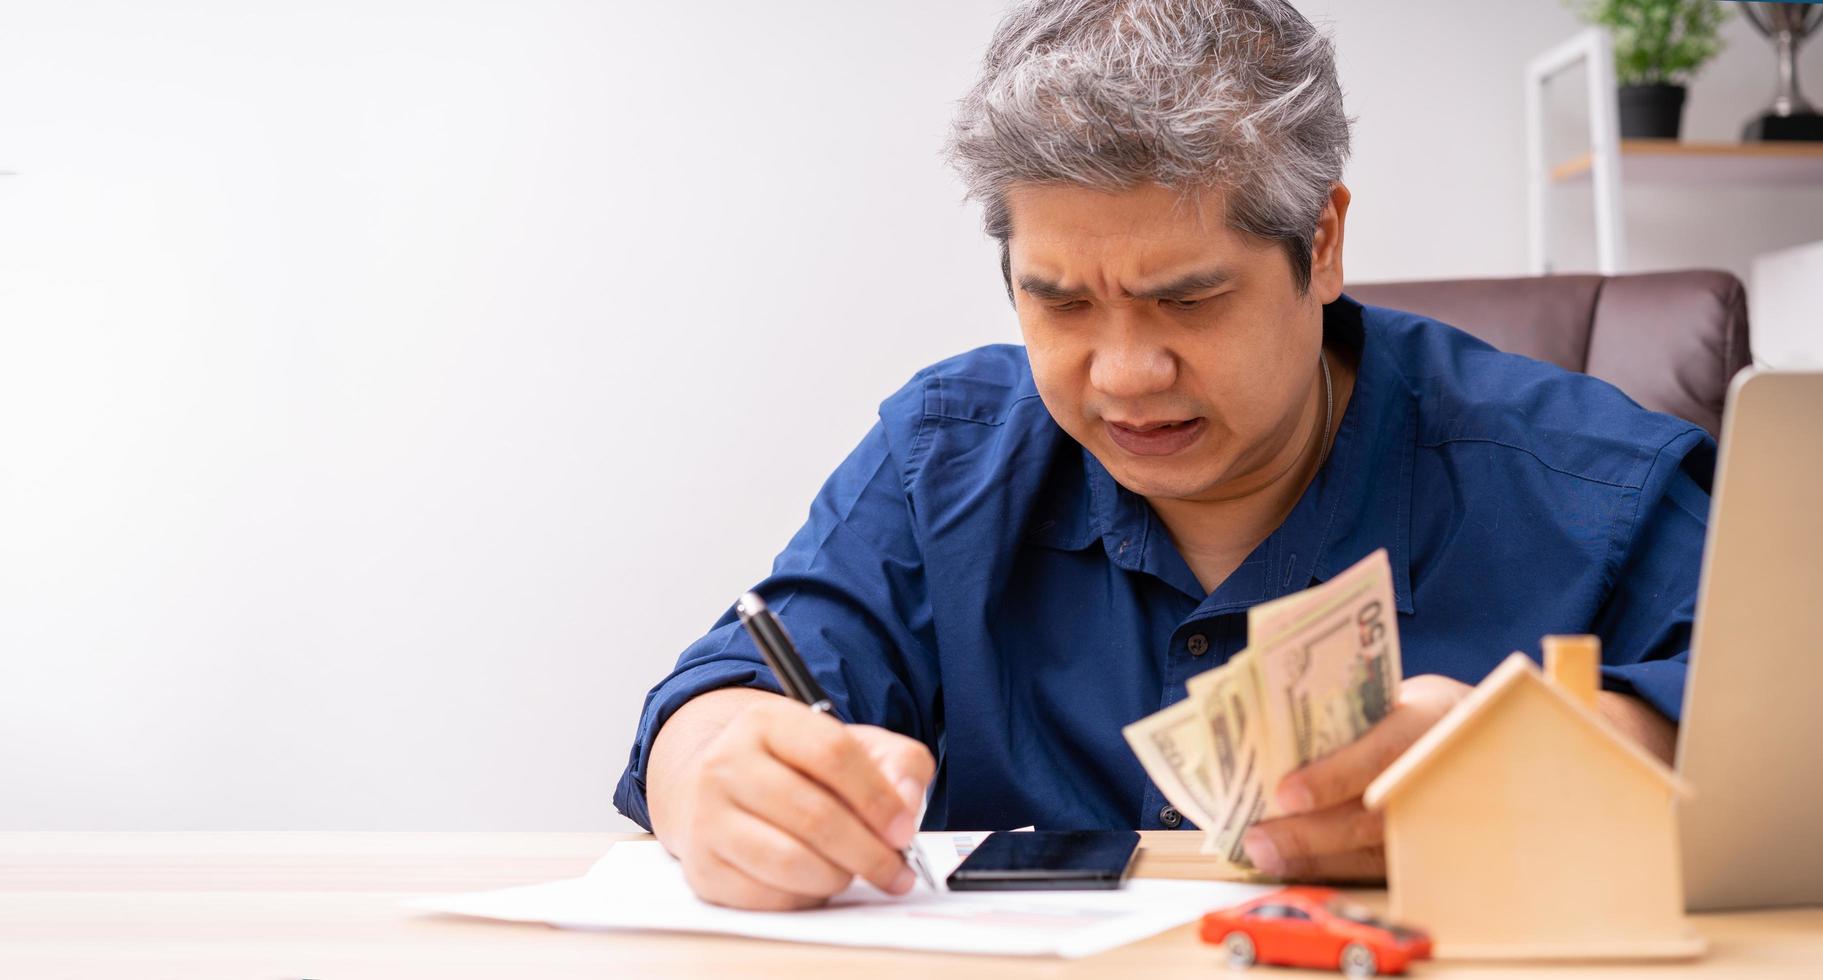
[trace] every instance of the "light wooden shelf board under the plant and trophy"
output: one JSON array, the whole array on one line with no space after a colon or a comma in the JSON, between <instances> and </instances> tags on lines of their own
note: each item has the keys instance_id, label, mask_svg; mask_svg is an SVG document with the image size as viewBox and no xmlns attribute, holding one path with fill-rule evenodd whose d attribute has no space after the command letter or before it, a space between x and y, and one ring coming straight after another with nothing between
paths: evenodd
<instances>
[{"instance_id":1,"label":"light wooden shelf board under the plant and trophy","mask_svg":"<svg viewBox=\"0 0 1823 980\"><path fill-rule=\"evenodd\" d=\"M1593 155L1551 168L1551 180L1590 179ZM1818 184L1823 142L1621 140L1621 179L1641 184Z\"/></svg>"}]
</instances>

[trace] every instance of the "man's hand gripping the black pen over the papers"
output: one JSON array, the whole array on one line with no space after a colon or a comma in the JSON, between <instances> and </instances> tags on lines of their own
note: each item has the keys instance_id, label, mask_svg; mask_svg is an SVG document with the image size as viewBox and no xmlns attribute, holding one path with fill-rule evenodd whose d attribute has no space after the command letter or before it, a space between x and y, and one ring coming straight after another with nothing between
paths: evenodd
<instances>
[{"instance_id":1,"label":"man's hand gripping the black pen over the papers","mask_svg":"<svg viewBox=\"0 0 1823 980\"><path fill-rule=\"evenodd\" d=\"M802 909L857 874L891 894L912 891L901 849L933 771L912 738L762 690L715 690L660 729L647 803L702 900Z\"/></svg>"}]
</instances>

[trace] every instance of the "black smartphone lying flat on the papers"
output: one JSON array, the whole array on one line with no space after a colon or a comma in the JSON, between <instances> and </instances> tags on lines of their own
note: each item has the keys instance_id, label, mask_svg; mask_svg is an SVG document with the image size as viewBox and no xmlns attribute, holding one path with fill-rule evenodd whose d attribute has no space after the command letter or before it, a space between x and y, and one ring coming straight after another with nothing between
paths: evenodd
<instances>
[{"instance_id":1,"label":"black smartphone lying flat on the papers","mask_svg":"<svg viewBox=\"0 0 1823 980\"><path fill-rule=\"evenodd\" d=\"M950 873L950 891L1117 889L1138 831L995 831Z\"/></svg>"}]
</instances>

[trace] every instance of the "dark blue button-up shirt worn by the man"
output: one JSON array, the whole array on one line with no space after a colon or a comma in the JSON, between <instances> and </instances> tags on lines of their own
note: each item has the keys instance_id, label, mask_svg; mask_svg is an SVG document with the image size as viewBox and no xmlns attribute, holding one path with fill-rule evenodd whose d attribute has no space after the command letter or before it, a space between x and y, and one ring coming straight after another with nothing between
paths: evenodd
<instances>
[{"instance_id":1,"label":"dark blue button-up shirt worn by the man","mask_svg":"<svg viewBox=\"0 0 1823 980\"><path fill-rule=\"evenodd\" d=\"M1329 459L1214 592L1150 505L1045 410L1019 346L919 372L757 590L850 721L937 758L928 829L1161 827L1121 727L1247 645L1245 612L1375 548L1406 676L1468 683L1544 634L1677 718L1714 441L1613 386L1440 322L1323 310L1360 368ZM777 690L733 608L651 690L614 803L642 825L653 736L720 687Z\"/></svg>"}]
</instances>

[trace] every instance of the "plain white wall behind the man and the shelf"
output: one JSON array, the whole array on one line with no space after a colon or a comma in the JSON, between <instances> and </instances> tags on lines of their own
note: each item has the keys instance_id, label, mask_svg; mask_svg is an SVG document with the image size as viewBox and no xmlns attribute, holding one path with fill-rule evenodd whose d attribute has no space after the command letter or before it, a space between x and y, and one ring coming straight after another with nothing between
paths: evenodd
<instances>
[{"instance_id":1,"label":"plain white wall behind the man and the shelf","mask_svg":"<svg viewBox=\"0 0 1823 980\"><path fill-rule=\"evenodd\" d=\"M1520 273L1568 15L1309 9L1351 277ZM937 157L997 13L0 4L0 829L623 827L644 690L881 397L1015 339ZM1766 97L1730 35L1694 135Z\"/></svg>"}]
</instances>

